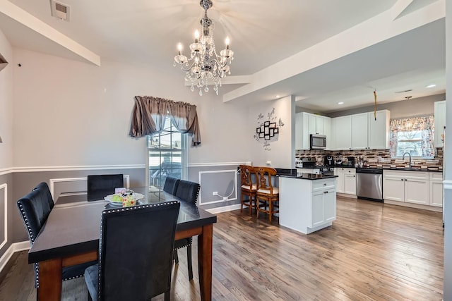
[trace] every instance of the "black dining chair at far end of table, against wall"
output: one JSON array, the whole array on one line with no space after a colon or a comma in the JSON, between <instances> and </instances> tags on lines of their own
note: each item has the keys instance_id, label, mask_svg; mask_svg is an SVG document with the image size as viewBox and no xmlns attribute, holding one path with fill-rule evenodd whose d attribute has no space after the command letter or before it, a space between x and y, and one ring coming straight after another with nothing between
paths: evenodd
<instances>
[{"instance_id":1,"label":"black dining chair at far end of table, against wall","mask_svg":"<svg viewBox=\"0 0 452 301\"><path fill-rule=\"evenodd\" d=\"M88 202L104 199L106 195L114 194L114 188L124 187L124 176L90 175L88 176Z\"/></svg>"}]
</instances>

